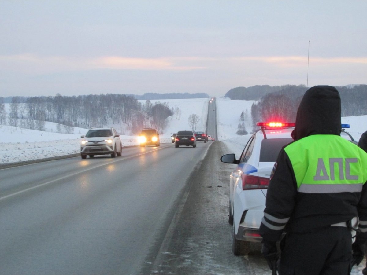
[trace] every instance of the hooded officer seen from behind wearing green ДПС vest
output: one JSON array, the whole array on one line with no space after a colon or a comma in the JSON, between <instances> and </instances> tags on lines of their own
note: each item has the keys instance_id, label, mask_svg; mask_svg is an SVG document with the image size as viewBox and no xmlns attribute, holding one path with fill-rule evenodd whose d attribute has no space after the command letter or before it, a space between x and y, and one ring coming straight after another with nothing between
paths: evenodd
<instances>
[{"instance_id":1,"label":"hooded officer seen from behind wearing green \u0414\u041f\u0421 vest","mask_svg":"<svg viewBox=\"0 0 367 275\"><path fill-rule=\"evenodd\" d=\"M315 86L299 104L293 142L274 165L260 226L262 253L279 274L349 274L367 241L367 153L340 136L337 89ZM351 227L360 234L353 243ZM272 264L270 264L272 263ZM275 267L274 267L275 268Z\"/></svg>"}]
</instances>

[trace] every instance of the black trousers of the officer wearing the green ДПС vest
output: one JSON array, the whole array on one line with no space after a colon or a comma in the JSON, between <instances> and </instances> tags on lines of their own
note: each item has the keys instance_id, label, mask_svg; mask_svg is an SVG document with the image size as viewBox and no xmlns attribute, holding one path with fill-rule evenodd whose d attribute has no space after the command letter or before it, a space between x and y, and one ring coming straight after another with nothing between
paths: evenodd
<instances>
[{"instance_id":1,"label":"black trousers of the officer wearing the green \u0414\u041f\u0421 vest","mask_svg":"<svg viewBox=\"0 0 367 275\"><path fill-rule=\"evenodd\" d=\"M288 233L280 242L279 275L349 275L352 235L346 227Z\"/></svg>"}]
</instances>

